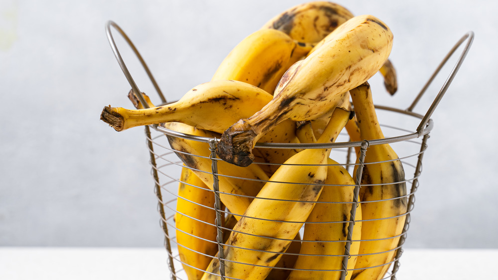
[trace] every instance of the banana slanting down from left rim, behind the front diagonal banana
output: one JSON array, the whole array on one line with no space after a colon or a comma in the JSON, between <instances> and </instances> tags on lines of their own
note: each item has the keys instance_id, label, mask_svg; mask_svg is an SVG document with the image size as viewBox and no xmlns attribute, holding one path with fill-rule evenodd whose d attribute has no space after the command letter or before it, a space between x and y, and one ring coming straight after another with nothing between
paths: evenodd
<instances>
[{"instance_id":1,"label":"banana slanting down from left rim, behind the front diagonal banana","mask_svg":"<svg viewBox=\"0 0 498 280\"><path fill-rule=\"evenodd\" d=\"M180 122L167 122L162 125L167 129L185 134L208 138L220 137L218 133L198 129ZM182 162L191 168L204 184L213 189L214 181L209 144L180 137L168 137L168 141ZM249 207L253 197L268 180L268 176L258 165L237 167L221 160L218 160L217 163L220 199L239 220Z\"/></svg>"}]
</instances>

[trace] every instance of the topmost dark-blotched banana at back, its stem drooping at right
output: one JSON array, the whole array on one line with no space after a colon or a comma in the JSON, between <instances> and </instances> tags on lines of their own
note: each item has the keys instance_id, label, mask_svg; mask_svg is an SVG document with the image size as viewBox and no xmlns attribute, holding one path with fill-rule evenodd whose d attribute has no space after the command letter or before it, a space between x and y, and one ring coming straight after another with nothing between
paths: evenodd
<instances>
[{"instance_id":1,"label":"topmost dark-blotched banana at back, its stem drooping at right","mask_svg":"<svg viewBox=\"0 0 498 280\"><path fill-rule=\"evenodd\" d=\"M329 1L310 1L295 5L266 22L261 29L273 28L292 39L317 44L354 15L342 5ZM379 69L384 86L391 95L397 91L396 71L387 60Z\"/></svg>"}]
</instances>

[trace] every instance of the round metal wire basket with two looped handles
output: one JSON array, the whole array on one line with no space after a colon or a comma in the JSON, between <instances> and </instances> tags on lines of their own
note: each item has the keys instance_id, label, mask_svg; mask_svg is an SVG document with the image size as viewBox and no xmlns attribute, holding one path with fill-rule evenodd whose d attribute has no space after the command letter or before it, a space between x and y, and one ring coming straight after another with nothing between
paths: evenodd
<instances>
[{"instance_id":1,"label":"round metal wire basket with two looped handles","mask_svg":"<svg viewBox=\"0 0 498 280\"><path fill-rule=\"evenodd\" d=\"M133 52L139 59L140 63L144 67L145 71L147 72L147 75L149 79L151 80L152 84L154 85L154 88L156 89L159 97L161 98L163 104L166 103L166 99L164 98L164 95L161 93L157 83L155 82L151 72L149 71L147 65L145 64L144 60L138 53L137 49L131 42L131 40L126 36L124 31L113 21L109 21L106 25L106 31L107 31L107 36L109 39L109 42L111 44L111 47L113 49L113 52L124 72L124 75L126 76L126 79L128 80L132 91L136 94L138 99L140 100L141 104L144 105L144 107L148 107L146 102L144 101L144 98L141 94L141 92L138 90L136 84L134 83L131 75L129 74L124 61L118 51L118 48L116 46L116 43L114 41L114 38L112 36L111 32L111 27L114 27L115 29L118 30L118 32L124 37L128 45L132 48ZM465 56L467 55L470 46L472 44L474 38L474 33L471 31L467 34L465 34L455 45L454 47L449 51L449 53L446 55L446 57L443 59L443 61L440 63L438 68L434 71L428 82L425 84L425 86L422 88L420 93L415 97L413 102L410 104L410 106L407 109L399 109L399 108L393 108L393 107L387 107L387 106L379 106L376 105L375 108L377 110L377 114L379 116L379 121L382 126L382 130L384 132L384 135L386 136L384 139L376 139L376 140L371 140L371 141L357 141L357 142L351 142L349 141L348 135L340 135L340 138L336 141L336 143L330 143L330 144L283 144L283 143L257 143L256 148L266 148L266 149L305 149L305 148L310 148L310 149L317 149L317 148L323 148L323 147L330 147L332 149L331 153L331 158L336 160L340 165L344 166L347 168L347 170L351 173L353 176L353 168L355 165L358 165L358 172L357 172L357 177L356 177L356 186L355 186L355 196L351 201L329 201L325 203L345 203L351 205L351 215L350 219L347 221L344 220L330 220L330 221L324 221L327 223L342 223L344 224L344 229L345 231L347 230L347 240L341 241L344 244L344 254L340 255L334 255L335 257L342 258L342 268L340 269L335 269L335 271L340 272L340 279L345 279L346 276L349 273L352 273L354 269L347 269L347 264L348 260L351 257L354 256L360 256L360 255L354 255L350 253L350 247L353 242L361 242L361 241L366 241L366 240L355 240L352 238L352 231L354 229L354 225L357 222L360 221L366 221L366 220L356 220L355 221L355 211L357 207L361 206L362 201L358 201L358 192L361 186L360 180L358 178L361 178L363 167L366 165L364 162L365 159L365 154L366 151L369 149L369 147L375 146L375 145L380 145L380 144L389 144L398 154L399 159L402 162L404 171L405 171L405 180L404 183L406 183L407 186L407 193L406 195L394 197L391 199L399 199L399 198L406 198L407 200L407 211L406 213L402 214L402 216L405 217L405 222L404 222L404 227L402 230L402 233L398 236L394 237L389 237L389 238L398 238L398 245L390 249L389 251L392 251L394 253L394 258L392 260L388 260L387 262L381 264L380 266L385 266L390 268L390 272L386 273L384 275L383 279L388 279L390 278L391 280L394 280L396 277L396 272L399 269L399 260L401 257L401 254L403 252L402 250L402 245L405 242L405 239L407 237L407 230L409 227L410 223L410 214L413 210L414 202L415 202L415 192L417 188L419 187L418 183L418 178L421 174L422 171L422 157L423 154L425 153L427 149L427 139L429 138L429 133L433 128L433 121L430 118L432 113L434 112L436 106L438 105L439 101L443 97L444 93L447 91L449 85L451 84L453 78L455 77L455 74L458 72L463 60L465 59ZM428 89L429 85L432 83L434 78L438 75L442 67L446 64L446 62L449 60L449 58L455 53L455 51L465 42L467 41L466 45L464 46L464 49L452 69L451 73L449 74L447 80L443 84L441 90L437 94L436 98L434 99L432 105L429 107L427 112L422 115L413 112L413 109L421 96L426 92ZM394 122L396 120L396 122ZM415 129L412 129L415 128ZM177 214L185 214L185 213L178 213L177 208L176 208L176 203L178 201L178 185L179 183L184 183L182 182L180 178L180 174L182 171L182 168L185 168L183 162L179 159L177 156L177 153L182 153L181 151L176 151L171 148L168 142L168 138L182 138L182 139L187 139L189 141L197 141L197 142L203 142L206 143L207 147L209 147L209 151L206 151L206 154L204 156L201 155L191 155L194 157L204 157L205 159L208 159L211 161L211 170L210 171L205 171L201 170L201 172L208 172L210 173L211 176L213 176L213 186L209 186L210 190L214 194L214 205L211 206L206 206L206 205L199 205L200 207L204 207L205 211L215 211L216 213L216 220L211 224L212 230L216 230L216 240L211 240L209 242L213 242L217 245L218 247L218 254L214 256L207 256L209 258L218 258L220 262L220 269L219 269L219 274L221 279L234 279L234 278L226 278L225 277L225 262L228 262L228 260L225 259L224 256L224 240L227 237L227 235L230 235L232 228L228 227L224 221L226 221L231 213L229 209L225 209L223 207L223 203L220 199L220 194L224 194L222 191L219 189L219 177L220 176L225 176L222 173L219 173L218 171L218 163L219 159L216 157L216 145L217 145L217 139L216 138L209 138L209 137L200 137L200 136L195 136L195 135L189 135L185 133L180 133L177 131L173 131L167 128L164 128L160 125L151 125L151 126L145 126L145 137L146 137L146 142L147 142L147 147L149 150L150 154L150 164L152 166L151 169L151 174L154 179L154 189L155 189L155 194L157 195L158 198L158 211L161 216L161 228L164 232L165 236L165 247L167 249L168 253L168 266L169 266L169 271L170 271L170 277L171 279L187 279L187 276L185 274L185 268L188 268L190 265L182 261L180 258L180 255L178 253L178 248L186 248L185 244L179 244L176 236L180 232L178 228L175 226L175 215ZM356 153L353 152L355 147L360 148L360 153L358 157L358 161L356 159ZM266 165L266 163L262 162L255 162L253 164L256 165ZM241 180L247 180L245 178L240 178ZM265 183L263 181L262 183ZM201 186L191 186L191 187L201 187ZM325 186L325 187L338 187L338 186ZM253 198L253 197L251 197ZM183 198L182 198L183 199ZM192 203L198 203L195 201L190 201ZM387 218L392 218L392 217L385 217ZM202 222L202 221L201 221ZM306 224L306 223L305 223ZM303 225L303 228L305 226ZM181 232L182 234L190 234L188 232ZM302 233L302 229L300 231ZM200 237L199 237L200 238ZM267 238L267 237L266 237ZM208 241L208 240L207 240ZM302 242L314 242L314 241L302 241ZM334 241L329 241L329 242L334 242ZM337 242L337 241L336 241ZM188 249L188 248L187 248ZM381 253L386 253L384 252L378 252L378 254ZM203 252L199 252L199 254L204 254ZM282 255L287 255L287 256L294 256L297 257L299 256L299 252L283 252ZM326 256L322 256L326 257ZM280 268L275 268L274 270L280 270L280 272L289 273L290 271L293 270L292 267L280 267ZM202 271L202 270L201 270Z\"/></svg>"}]
</instances>

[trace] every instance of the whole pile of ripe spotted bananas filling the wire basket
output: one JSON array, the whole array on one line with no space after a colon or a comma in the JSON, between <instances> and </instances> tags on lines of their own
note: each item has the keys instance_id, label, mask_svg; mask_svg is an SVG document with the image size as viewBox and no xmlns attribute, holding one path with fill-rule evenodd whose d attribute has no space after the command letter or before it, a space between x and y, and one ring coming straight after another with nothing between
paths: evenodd
<instances>
[{"instance_id":1,"label":"whole pile of ripe spotted bananas filling the wire basket","mask_svg":"<svg viewBox=\"0 0 498 280\"><path fill-rule=\"evenodd\" d=\"M368 81L379 72L387 92L396 92L392 40L387 24L373 15L311 1L249 34L210 81L179 100L155 106L142 93L144 108L130 92L133 109L103 108L101 120L116 131L160 125L216 140L212 149L166 135L183 163L175 242L189 280L221 279L222 273L242 280L385 276L407 211L401 161L383 144L368 147L360 162L365 150L358 145L350 174L324 144L343 132L354 142L384 138Z\"/></svg>"}]
</instances>

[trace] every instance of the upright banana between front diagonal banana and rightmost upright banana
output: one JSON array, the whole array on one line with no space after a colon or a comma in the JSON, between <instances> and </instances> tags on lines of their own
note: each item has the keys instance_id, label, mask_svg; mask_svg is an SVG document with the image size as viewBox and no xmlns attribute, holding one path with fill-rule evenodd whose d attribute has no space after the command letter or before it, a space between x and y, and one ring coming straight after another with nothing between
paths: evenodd
<instances>
[{"instance_id":1,"label":"upright banana between front diagonal banana and rightmost upright banana","mask_svg":"<svg viewBox=\"0 0 498 280\"><path fill-rule=\"evenodd\" d=\"M350 120L351 121L351 120ZM297 128L301 143L315 143L311 123ZM327 179L320 196L304 225L301 251L287 280L339 280L344 256L350 255L348 271L355 268L360 249L362 209L356 208L349 252L345 251L348 226L354 201L355 181L348 171L328 159ZM356 241L355 241L356 240ZM345 280L351 278L351 272Z\"/></svg>"}]
</instances>

